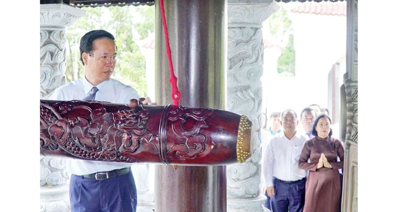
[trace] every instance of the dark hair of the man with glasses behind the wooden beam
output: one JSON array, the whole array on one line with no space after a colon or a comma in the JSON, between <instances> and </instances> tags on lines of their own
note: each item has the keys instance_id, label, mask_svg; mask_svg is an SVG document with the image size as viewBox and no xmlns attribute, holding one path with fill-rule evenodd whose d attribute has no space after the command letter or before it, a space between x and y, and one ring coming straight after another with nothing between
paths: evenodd
<instances>
[{"instance_id":1,"label":"dark hair of the man with glasses behind the wooden beam","mask_svg":"<svg viewBox=\"0 0 399 212\"><path fill-rule=\"evenodd\" d=\"M115 37L111 33L103 30L103 29L96 29L87 32L83 37L80 39L80 61L84 65L82 54L83 52L90 53L93 50L93 41L98 38L108 37L115 43ZM116 43L115 43L116 47Z\"/></svg>"}]
</instances>

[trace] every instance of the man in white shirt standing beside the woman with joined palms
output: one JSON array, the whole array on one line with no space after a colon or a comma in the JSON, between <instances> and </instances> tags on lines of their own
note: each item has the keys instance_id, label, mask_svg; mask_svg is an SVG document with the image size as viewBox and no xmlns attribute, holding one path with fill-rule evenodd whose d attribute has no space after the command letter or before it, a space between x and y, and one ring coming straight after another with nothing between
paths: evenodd
<instances>
[{"instance_id":1,"label":"man in white shirt standing beside the woman with joined palms","mask_svg":"<svg viewBox=\"0 0 399 212\"><path fill-rule=\"evenodd\" d=\"M284 131L266 147L263 172L272 212L302 212L307 173L298 168L298 160L307 140L297 132L299 121L291 109L281 113Z\"/></svg>"}]
</instances>

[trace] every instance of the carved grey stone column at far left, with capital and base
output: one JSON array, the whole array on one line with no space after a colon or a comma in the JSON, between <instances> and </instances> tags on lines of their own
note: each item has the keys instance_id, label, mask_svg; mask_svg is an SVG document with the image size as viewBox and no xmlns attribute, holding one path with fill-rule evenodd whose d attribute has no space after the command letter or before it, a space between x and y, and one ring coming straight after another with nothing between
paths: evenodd
<instances>
[{"instance_id":1,"label":"carved grey stone column at far left, with capital and base","mask_svg":"<svg viewBox=\"0 0 399 212\"><path fill-rule=\"evenodd\" d=\"M40 98L65 84L65 27L85 14L67 4L40 4ZM40 157L40 212L69 212L65 160Z\"/></svg>"}]
</instances>

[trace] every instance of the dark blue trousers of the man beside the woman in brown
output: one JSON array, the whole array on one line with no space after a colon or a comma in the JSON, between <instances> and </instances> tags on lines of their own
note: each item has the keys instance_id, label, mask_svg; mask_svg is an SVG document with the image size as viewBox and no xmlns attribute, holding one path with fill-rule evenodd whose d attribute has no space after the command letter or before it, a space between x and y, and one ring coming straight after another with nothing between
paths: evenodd
<instances>
[{"instance_id":1,"label":"dark blue trousers of the man beside the woman in brown","mask_svg":"<svg viewBox=\"0 0 399 212\"><path fill-rule=\"evenodd\" d=\"M274 197L270 198L272 212L302 212L305 204L306 178L285 183L273 178Z\"/></svg>"}]
</instances>

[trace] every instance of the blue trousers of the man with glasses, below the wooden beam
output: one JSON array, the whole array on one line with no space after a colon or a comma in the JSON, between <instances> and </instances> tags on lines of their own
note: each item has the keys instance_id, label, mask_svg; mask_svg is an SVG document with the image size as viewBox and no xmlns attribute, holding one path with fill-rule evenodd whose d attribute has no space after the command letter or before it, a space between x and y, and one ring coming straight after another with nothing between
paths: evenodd
<instances>
[{"instance_id":1,"label":"blue trousers of the man with glasses, below the wooden beam","mask_svg":"<svg viewBox=\"0 0 399 212\"><path fill-rule=\"evenodd\" d=\"M71 175L71 212L136 212L137 190L132 170L106 180Z\"/></svg>"}]
</instances>

